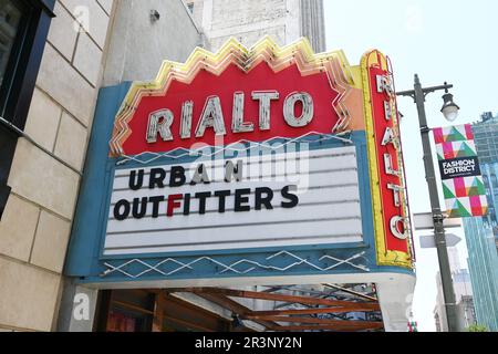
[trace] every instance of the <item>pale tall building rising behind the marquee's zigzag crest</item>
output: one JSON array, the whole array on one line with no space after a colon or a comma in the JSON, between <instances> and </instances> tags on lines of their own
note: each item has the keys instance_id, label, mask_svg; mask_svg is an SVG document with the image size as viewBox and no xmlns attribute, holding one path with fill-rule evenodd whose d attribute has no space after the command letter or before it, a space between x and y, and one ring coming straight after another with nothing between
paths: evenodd
<instances>
[{"instance_id":1,"label":"pale tall building rising behind the marquee's zigzag crest","mask_svg":"<svg viewBox=\"0 0 498 354\"><path fill-rule=\"evenodd\" d=\"M230 37L247 46L266 34L279 44L307 37L317 52L325 50L322 0L187 0L194 18L218 50Z\"/></svg>"}]
</instances>

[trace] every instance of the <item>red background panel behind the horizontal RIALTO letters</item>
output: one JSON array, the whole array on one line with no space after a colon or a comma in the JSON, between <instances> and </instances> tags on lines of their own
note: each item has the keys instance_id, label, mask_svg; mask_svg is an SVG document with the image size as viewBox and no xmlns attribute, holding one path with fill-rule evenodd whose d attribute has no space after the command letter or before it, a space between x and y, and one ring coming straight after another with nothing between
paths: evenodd
<instances>
[{"instance_id":1,"label":"red background panel behind the horizontal RIALTO letters","mask_svg":"<svg viewBox=\"0 0 498 354\"><path fill-rule=\"evenodd\" d=\"M174 81L168 91L162 96L143 97L133 118L129 121L131 136L123 144L127 155L143 152L167 152L178 147L190 148L196 143L207 145L227 145L241 139L262 142L272 137L299 137L309 132L331 134L339 117L332 103L339 93L331 90L325 72L303 76L297 65L291 65L274 73L267 63L260 63L249 73L245 73L236 65L230 65L219 76L201 71L190 84ZM267 103L258 96L259 93L269 93L269 122L261 126L261 108ZM290 126L284 119L283 111L286 98L295 93L307 93L312 100L314 116L302 127ZM243 123L249 132L235 133L236 94L243 102ZM243 98L241 97L243 94ZM221 140L216 140L215 127L205 128L201 136L196 136L197 127L201 121L206 105L210 97L218 97L221 106L225 134L219 134ZM181 137L181 117L185 103L191 103L191 121L189 137ZM169 126L170 139L163 139L158 134L156 142L148 143L145 138L149 115L160 110L169 110L173 122ZM303 104L298 101L293 105L295 117L302 115ZM240 117L240 113L239 117ZM201 133L201 132L199 132Z\"/></svg>"}]
</instances>

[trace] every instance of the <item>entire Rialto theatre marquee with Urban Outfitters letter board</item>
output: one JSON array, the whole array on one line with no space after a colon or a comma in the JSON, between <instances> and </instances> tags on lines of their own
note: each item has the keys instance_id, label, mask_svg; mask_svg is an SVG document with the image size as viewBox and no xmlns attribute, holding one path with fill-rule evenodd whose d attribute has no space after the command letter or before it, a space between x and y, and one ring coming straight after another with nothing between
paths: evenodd
<instances>
[{"instance_id":1,"label":"entire Rialto theatre marquee with Urban Outfitters letter board","mask_svg":"<svg viewBox=\"0 0 498 354\"><path fill-rule=\"evenodd\" d=\"M229 40L103 90L95 119L68 266L84 282L412 270L378 51Z\"/></svg>"}]
</instances>

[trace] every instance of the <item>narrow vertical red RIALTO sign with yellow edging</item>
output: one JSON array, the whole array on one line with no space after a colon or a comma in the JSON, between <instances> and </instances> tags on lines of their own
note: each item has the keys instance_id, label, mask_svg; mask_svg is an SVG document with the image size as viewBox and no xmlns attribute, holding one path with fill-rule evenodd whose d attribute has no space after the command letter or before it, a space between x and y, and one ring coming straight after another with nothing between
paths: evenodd
<instances>
[{"instance_id":1,"label":"narrow vertical red RIALTO sign with yellow edging","mask_svg":"<svg viewBox=\"0 0 498 354\"><path fill-rule=\"evenodd\" d=\"M398 114L387 59L377 51L362 64L377 258L411 262L409 221L401 153ZM375 186L377 188L375 188Z\"/></svg>"}]
</instances>

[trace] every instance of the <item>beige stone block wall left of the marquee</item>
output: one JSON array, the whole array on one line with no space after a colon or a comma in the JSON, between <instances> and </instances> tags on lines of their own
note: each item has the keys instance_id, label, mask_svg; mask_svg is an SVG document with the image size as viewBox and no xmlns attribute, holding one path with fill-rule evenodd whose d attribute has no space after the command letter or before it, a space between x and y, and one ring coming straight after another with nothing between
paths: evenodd
<instances>
[{"instance_id":1,"label":"beige stone block wall left of the marquee","mask_svg":"<svg viewBox=\"0 0 498 354\"><path fill-rule=\"evenodd\" d=\"M114 0L58 0L0 221L0 330L54 329ZM40 148L41 147L41 148Z\"/></svg>"}]
</instances>

